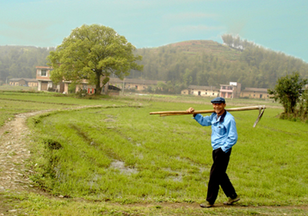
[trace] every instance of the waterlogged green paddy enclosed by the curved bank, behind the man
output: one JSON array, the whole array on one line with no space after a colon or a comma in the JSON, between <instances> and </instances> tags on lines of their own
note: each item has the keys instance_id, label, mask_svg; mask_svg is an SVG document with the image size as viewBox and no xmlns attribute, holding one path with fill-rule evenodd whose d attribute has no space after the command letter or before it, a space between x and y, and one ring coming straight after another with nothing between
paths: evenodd
<instances>
[{"instance_id":1,"label":"waterlogged green paddy enclosed by the curved bank, behind the man","mask_svg":"<svg viewBox=\"0 0 308 216\"><path fill-rule=\"evenodd\" d=\"M161 107L185 110L188 105L152 103L141 108L62 111L35 120L42 146L62 146L47 150L46 161L35 162L42 170L53 170L43 174L50 177L47 189L57 195L116 202L125 198L133 203L157 198L203 200L211 166L211 129L199 126L191 116L149 115ZM196 109L210 108L196 105ZM229 175L244 197L242 203L307 202L308 174L303 170L308 146L303 142L308 125L274 118L279 111L266 110L255 129L257 111L233 113L239 141L233 148ZM115 162L122 162L123 167L114 167ZM218 202L221 199L222 193Z\"/></svg>"}]
</instances>

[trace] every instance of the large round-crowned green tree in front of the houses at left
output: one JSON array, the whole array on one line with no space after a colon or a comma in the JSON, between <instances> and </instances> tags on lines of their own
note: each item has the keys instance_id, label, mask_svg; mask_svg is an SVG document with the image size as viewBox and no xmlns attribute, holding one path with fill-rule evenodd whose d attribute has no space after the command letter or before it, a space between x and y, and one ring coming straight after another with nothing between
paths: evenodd
<instances>
[{"instance_id":1,"label":"large round-crowned green tree in front of the houses at left","mask_svg":"<svg viewBox=\"0 0 308 216\"><path fill-rule=\"evenodd\" d=\"M110 75L123 78L131 70L142 70L143 66L138 64L142 57L133 55L135 50L135 46L110 27L82 25L73 29L47 57L53 68L51 80L80 83L86 79L96 86L96 94L101 94Z\"/></svg>"}]
</instances>

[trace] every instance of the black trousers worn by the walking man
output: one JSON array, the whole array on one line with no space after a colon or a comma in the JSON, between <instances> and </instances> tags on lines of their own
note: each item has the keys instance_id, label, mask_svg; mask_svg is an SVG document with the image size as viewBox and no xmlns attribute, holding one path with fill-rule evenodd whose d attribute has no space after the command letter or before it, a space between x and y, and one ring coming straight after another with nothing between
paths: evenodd
<instances>
[{"instance_id":1,"label":"black trousers worn by the walking man","mask_svg":"<svg viewBox=\"0 0 308 216\"><path fill-rule=\"evenodd\" d=\"M207 187L207 201L210 204L214 204L214 202L216 201L219 186L222 188L222 191L224 191L224 194L226 194L228 198L234 199L238 196L235 193L235 189L226 173L231 150L226 153L222 151L221 148L218 148L212 153L214 163L213 165L211 165L211 172L209 174L209 185Z\"/></svg>"}]
</instances>

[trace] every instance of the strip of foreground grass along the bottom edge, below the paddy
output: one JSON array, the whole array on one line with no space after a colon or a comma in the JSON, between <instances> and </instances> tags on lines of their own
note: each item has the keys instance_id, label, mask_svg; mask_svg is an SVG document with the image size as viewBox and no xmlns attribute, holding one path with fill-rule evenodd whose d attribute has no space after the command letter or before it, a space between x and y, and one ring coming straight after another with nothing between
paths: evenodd
<instances>
[{"instance_id":1,"label":"strip of foreground grass along the bottom edge, below the paddy","mask_svg":"<svg viewBox=\"0 0 308 216\"><path fill-rule=\"evenodd\" d=\"M62 216L101 216L101 215L307 215L300 207L240 207L240 208L198 208L186 207L181 204L166 205L164 203L146 205L110 204L108 202L89 202L82 199L47 198L35 193L11 193L3 195L10 202L14 202L16 212L6 212L5 215L62 215Z\"/></svg>"}]
</instances>

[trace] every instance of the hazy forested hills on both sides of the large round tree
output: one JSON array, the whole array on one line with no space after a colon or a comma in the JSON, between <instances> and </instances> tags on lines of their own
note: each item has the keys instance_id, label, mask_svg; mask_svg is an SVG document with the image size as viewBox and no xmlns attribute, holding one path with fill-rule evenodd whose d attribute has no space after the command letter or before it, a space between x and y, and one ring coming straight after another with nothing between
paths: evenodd
<instances>
[{"instance_id":1,"label":"hazy forested hills on both sides of the large round tree","mask_svg":"<svg viewBox=\"0 0 308 216\"><path fill-rule=\"evenodd\" d=\"M308 78L308 64L284 53L252 42L222 36L224 44L211 40L190 40L137 49L143 72L132 71L129 78L167 81L170 92L179 93L188 85L242 83L242 87L273 87L277 78L300 72ZM54 48L52 48L54 49ZM0 46L0 79L35 78L35 66L46 66L51 48Z\"/></svg>"}]
</instances>

